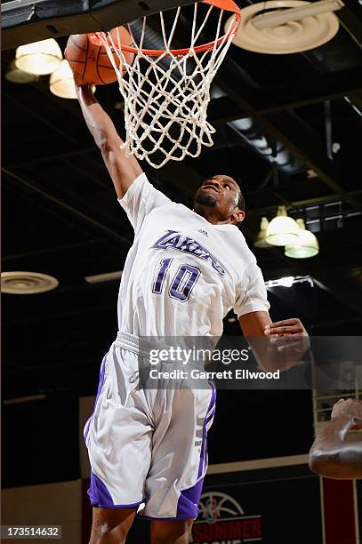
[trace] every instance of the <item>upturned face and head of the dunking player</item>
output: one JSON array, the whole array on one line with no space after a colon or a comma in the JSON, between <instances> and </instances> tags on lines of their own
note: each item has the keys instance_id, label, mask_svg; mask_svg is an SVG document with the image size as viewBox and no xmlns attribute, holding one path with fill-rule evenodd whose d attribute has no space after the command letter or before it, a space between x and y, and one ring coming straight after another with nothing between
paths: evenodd
<instances>
[{"instance_id":1,"label":"upturned face and head of the dunking player","mask_svg":"<svg viewBox=\"0 0 362 544\"><path fill-rule=\"evenodd\" d=\"M235 180L223 174L215 175L205 180L197 189L195 211L199 212L200 207L209 209L210 212L218 215L220 221L229 220L237 209L239 195L240 189ZM238 217L236 221L231 222L242 219Z\"/></svg>"}]
</instances>

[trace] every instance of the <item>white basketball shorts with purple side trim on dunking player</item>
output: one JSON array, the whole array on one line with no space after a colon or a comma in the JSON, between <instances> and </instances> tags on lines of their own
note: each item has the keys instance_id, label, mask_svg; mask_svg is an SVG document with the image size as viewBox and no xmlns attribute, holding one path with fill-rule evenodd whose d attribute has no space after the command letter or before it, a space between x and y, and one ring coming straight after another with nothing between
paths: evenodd
<instances>
[{"instance_id":1,"label":"white basketball shorts with purple side trim on dunking player","mask_svg":"<svg viewBox=\"0 0 362 544\"><path fill-rule=\"evenodd\" d=\"M216 392L142 389L138 342L118 333L101 364L94 411L84 428L93 506L136 508L141 516L189 519L207 468Z\"/></svg>"}]
</instances>

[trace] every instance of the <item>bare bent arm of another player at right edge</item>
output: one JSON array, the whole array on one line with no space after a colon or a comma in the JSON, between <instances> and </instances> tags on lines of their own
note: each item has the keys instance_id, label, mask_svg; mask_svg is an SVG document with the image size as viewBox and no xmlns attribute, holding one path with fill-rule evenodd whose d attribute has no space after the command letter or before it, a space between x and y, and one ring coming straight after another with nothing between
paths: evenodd
<instances>
[{"instance_id":1,"label":"bare bent arm of another player at right edge","mask_svg":"<svg viewBox=\"0 0 362 544\"><path fill-rule=\"evenodd\" d=\"M357 429L362 429L362 402L340 399L310 448L310 469L328 478L362 478L362 439L346 440L350 430Z\"/></svg>"}]
</instances>

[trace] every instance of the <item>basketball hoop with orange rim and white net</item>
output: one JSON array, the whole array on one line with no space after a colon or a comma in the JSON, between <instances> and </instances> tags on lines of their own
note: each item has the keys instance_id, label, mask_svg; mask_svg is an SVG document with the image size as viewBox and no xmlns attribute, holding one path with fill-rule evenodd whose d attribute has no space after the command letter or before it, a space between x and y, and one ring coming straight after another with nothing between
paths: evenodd
<instances>
[{"instance_id":1,"label":"basketball hoop with orange rim and white net","mask_svg":"<svg viewBox=\"0 0 362 544\"><path fill-rule=\"evenodd\" d=\"M207 122L210 85L240 24L240 10L232 0L201 0L192 8L192 25L188 25L189 47L172 48L180 28L185 34L182 27L185 9L190 8L183 6L173 10L176 14L168 33L165 13L169 12L159 13L163 40L159 49L144 47L149 32L148 17L142 20L138 39L133 25L128 25L132 46L121 44L118 35L116 42L109 32L88 35L93 43L106 48L117 73L119 90L125 100L126 138L122 147L129 155L146 159L154 168L160 168L169 160L181 161L186 155L196 157L202 146L213 145L215 130ZM204 13L200 13L202 10ZM219 13L213 17L215 10ZM222 34L224 12L234 12L235 17L229 20L225 34ZM206 23L210 24L212 19L215 38L199 44ZM125 52L134 54L131 64L127 62ZM127 76L122 76L122 72Z\"/></svg>"}]
</instances>

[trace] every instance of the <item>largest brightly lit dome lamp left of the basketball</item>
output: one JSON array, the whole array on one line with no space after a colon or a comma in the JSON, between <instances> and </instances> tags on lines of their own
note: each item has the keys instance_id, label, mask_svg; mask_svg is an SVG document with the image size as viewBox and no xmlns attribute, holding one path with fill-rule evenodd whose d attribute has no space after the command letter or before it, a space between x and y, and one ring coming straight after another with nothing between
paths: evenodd
<instances>
[{"instance_id":1,"label":"largest brightly lit dome lamp left of the basketball","mask_svg":"<svg viewBox=\"0 0 362 544\"><path fill-rule=\"evenodd\" d=\"M33 44L20 45L15 53L15 64L23 72L46 76L60 68L62 58L60 46L53 38L50 38Z\"/></svg>"}]
</instances>

